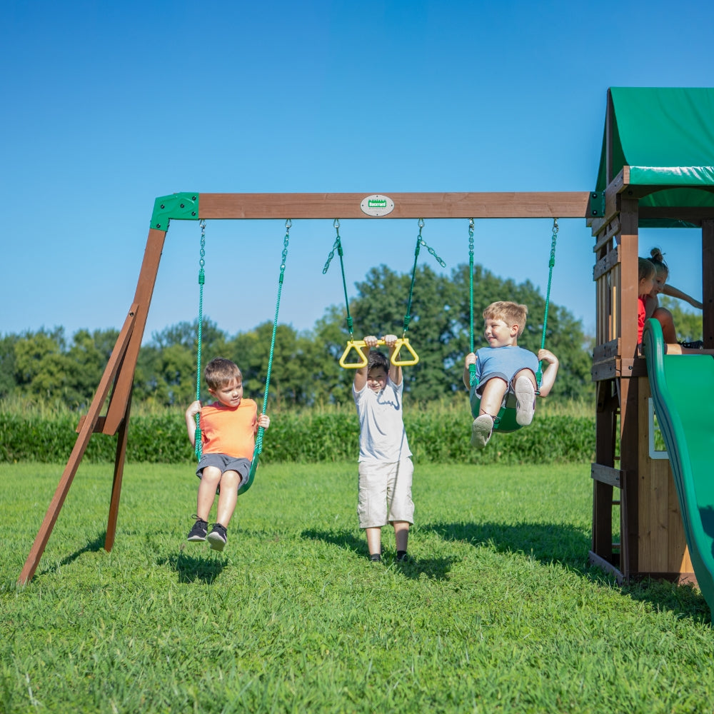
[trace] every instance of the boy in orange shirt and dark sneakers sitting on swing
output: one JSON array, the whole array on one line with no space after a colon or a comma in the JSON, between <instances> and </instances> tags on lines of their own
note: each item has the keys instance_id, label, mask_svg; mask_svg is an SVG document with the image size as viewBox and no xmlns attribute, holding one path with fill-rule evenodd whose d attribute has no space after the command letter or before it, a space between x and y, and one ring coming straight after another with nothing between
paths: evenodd
<instances>
[{"instance_id":1,"label":"boy in orange shirt and dark sneakers sitting on swing","mask_svg":"<svg viewBox=\"0 0 714 714\"><path fill-rule=\"evenodd\" d=\"M196 446L196 414L201 414L201 461L196 476L201 479L196 501L196 523L188 540L196 543L208 539L213 550L223 550L226 529L236 510L238 489L248 480L258 428L267 429L270 418L258 416L258 405L243 399L243 375L236 363L216 357L204 373L208 392L218 401L201 408L195 401L186 409L186 430L191 446ZM218 492L216 523L208 533L208 515Z\"/></svg>"}]
</instances>

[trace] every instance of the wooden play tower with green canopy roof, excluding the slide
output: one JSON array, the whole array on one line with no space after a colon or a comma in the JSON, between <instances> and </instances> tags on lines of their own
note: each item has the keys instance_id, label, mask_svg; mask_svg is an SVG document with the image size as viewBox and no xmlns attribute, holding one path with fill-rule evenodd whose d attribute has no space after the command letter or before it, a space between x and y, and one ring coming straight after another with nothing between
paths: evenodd
<instances>
[{"instance_id":1,"label":"wooden play tower with green canopy roof, excluding the slide","mask_svg":"<svg viewBox=\"0 0 714 714\"><path fill-rule=\"evenodd\" d=\"M637 347L638 255L648 251L638 229L701 231L704 346L714 348L714 89L611 88L590 213L598 214L588 219L597 294L590 560L620 580L693 580L670 461L652 447L656 422ZM694 379L690 390L698 395Z\"/></svg>"}]
</instances>

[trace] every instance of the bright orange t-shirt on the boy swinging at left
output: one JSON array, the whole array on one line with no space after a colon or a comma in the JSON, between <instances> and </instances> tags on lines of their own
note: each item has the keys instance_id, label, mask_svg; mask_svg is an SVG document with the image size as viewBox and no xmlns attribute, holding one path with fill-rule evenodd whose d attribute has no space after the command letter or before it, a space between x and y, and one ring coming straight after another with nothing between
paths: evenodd
<instances>
[{"instance_id":1,"label":"bright orange t-shirt on the boy swinging at left","mask_svg":"<svg viewBox=\"0 0 714 714\"><path fill-rule=\"evenodd\" d=\"M234 458L253 458L256 446L258 405L241 399L236 408L214 402L201 409L203 453L224 453Z\"/></svg>"}]
</instances>

